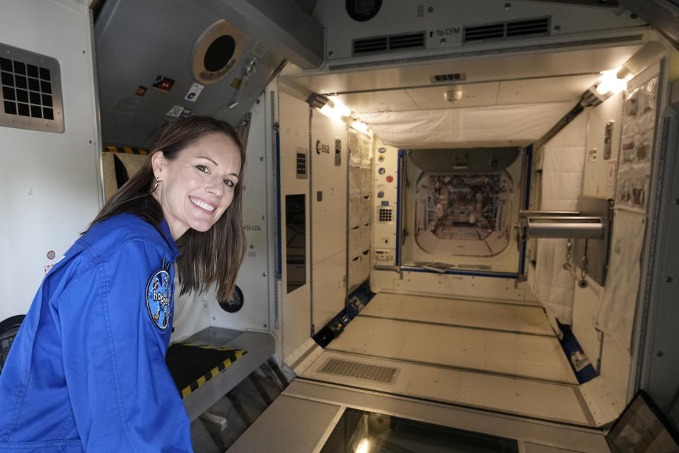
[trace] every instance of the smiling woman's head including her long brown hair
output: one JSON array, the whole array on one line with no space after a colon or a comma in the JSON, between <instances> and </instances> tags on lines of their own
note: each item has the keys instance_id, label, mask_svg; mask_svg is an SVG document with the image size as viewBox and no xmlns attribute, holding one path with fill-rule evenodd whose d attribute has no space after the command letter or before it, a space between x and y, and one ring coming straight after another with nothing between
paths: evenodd
<instances>
[{"instance_id":1,"label":"smiling woman's head including her long brown hair","mask_svg":"<svg viewBox=\"0 0 679 453\"><path fill-rule=\"evenodd\" d=\"M120 212L136 214L156 229L165 219L180 249L182 294L216 283L218 299L226 300L245 253L243 166L245 147L233 126L211 117L182 118L161 134L144 166L92 225ZM211 214L209 207L214 207Z\"/></svg>"}]
</instances>

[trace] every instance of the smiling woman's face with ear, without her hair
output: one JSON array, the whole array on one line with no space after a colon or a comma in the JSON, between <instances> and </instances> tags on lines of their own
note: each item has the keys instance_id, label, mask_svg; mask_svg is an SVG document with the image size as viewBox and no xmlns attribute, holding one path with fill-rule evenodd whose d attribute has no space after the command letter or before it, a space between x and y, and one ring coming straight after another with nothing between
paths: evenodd
<instances>
[{"instance_id":1,"label":"smiling woman's face with ear, without her hair","mask_svg":"<svg viewBox=\"0 0 679 453\"><path fill-rule=\"evenodd\" d=\"M236 142L221 132L205 134L170 161L158 151L151 156L161 181L153 196L175 241L187 229L207 231L231 205L240 178Z\"/></svg>"}]
</instances>

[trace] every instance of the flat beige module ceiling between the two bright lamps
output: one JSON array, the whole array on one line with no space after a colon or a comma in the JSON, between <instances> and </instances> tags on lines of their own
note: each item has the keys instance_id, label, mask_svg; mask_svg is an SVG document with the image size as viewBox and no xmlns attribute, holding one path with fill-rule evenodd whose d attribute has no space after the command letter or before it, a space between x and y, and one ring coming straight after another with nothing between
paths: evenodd
<instances>
[{"instance_id":1,"label":"flat beige module ceiling between the two bright lamps","mask_svg":"<svg viewBox=\"0 0 679 453\"><path fill-rule=\"evenodd\" d=\"M601 71L620 66L641 46L458 58L346 72L289 68L284 77L315 93L337 96L356 113L576 101ZM433 84L431 76L437 74L462 74L463 80ZM460 101L444 99L450 90L462 91Z\"/></svg>"}]
</instances>

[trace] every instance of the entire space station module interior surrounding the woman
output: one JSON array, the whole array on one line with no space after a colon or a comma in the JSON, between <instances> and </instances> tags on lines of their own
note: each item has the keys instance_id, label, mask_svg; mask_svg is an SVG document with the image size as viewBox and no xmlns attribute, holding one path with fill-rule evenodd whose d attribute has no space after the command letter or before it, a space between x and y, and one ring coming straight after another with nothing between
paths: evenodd
<instances>
[{"instance_id":1,"label":"entire space station module interior surrounding the woman","mask_svg":"<svg viewBox=\"0 0 679 453\"><path fill-rule=\"evenodd\" d=\"M349 451L349 425L393 448L351 451L443 451L405 420L502 451L678 445L674 1L1 9L3 363L161 130L208 115L246 144L248 246L231 299L175 293L196 451ZM228 357L182 361L206 350Z\"/></svg>"}]
</instances>

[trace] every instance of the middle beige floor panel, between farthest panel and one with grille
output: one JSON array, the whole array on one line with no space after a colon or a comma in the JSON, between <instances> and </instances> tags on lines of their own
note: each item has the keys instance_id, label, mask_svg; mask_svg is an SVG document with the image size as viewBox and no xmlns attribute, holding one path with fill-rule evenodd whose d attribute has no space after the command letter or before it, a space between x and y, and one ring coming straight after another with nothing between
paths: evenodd
<instances>
[{"instance_id":1,"label":"middle beige floor panel, between farthest panel and one with grille","mask_svg":"<svg viewBox=\"0 0 679 453\"><path fill-rule=\"evenodd\" d=\"M556 337L357 316L327 349L577 384Z\"/></svg>"}]
</instances>

